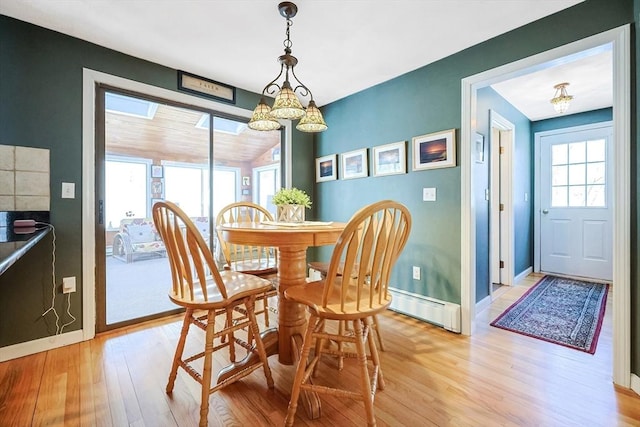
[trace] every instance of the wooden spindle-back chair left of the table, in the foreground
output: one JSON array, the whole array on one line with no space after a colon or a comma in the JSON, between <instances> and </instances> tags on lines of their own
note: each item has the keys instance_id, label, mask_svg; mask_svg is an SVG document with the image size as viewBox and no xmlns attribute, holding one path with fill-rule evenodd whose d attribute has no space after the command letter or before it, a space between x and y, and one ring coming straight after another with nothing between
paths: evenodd
<instances>
[{"instance_id":1,"label":"wooden spindle-back chair left of the table, in the foreground","mask_svg":"<svg viewBox=\"0 0 640 427\"><path fill-rule=\"evenodd\" d=\"M173 391L178 368L182 368L201 385L200 426L207 425L209 395L262 367L267 386L273 388L271 370L256 320L255 300L271 288L266 279L235 271L219 271L208 245L189 217L174 203L163 201L153 205L153 220L167 248L171 266L172 288L169 298L186 309L180 338L176 347L166 391ZM242 307L247 315L233 321L234 309ZM222 319L216 322L216 318ZM205 331L204 351L183 357L187 334L194 325ZM220 326L223 325L223 326ZM239 329L252 331L254 345L234 336ZM224 340L223 340L224 338ZM259 362L233 375L218 373L216 385L211 387L214 352L229 349L230 361L235 360L236 344L257 353ZM203 359L202 364L193 362ZM199 369L201 367L201 369Z\"/></svg>"}]
</instances>

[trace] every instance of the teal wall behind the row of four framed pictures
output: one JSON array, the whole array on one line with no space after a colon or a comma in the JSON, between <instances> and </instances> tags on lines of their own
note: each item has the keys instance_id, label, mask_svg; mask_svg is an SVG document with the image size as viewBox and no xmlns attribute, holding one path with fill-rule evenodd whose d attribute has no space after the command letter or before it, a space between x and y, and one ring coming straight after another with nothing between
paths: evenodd
<instances>
[{"instance_id":1,"label":"teal wall behind the row of four framed pictures","mask_svg":"<svg viewBox=\"0 0 640 427\"><path fill-rule=\"evenodd\" d=\"M640 0L587 0L572 8L515 29L391 81L363 90L323 108L329 125L316 138L315 156L369 148L444 129L460 129L461 80L603 31L634 22ZM637 24L636 24L637 25ZM637 50L638 32L635 38ZM415 49L428 49L416 44ZM638 88L637 56L632 80L633 117ZM637 120L632 129L633 176L638 182ZM459 137L459 135L458 135ZM458 142L458 148L460 147ZM411 154L408 151L408 165ZM459 158L459 155L458 155ZM526 161L523 155L518 161ZM371 167L371 155L369 166ZM410 169L410 167L409 167ZM527 184L524 184L525 187ZM436 202L422 202L423 187L437 188ZM529 184L529 188L531 185ZM640 318L638 305L637 185L631 197L632 234L632 369L640 372ZM530 192L531 194L531 192ZM359 207L392 198L411 210L414 226L409 242L394 269L394 286L416 293L460 302L460 167L410 171L404 175L338 180L316 184L320 219L347 219ZM531 199L530 199L531 200ZM328 258L328 249L317 256ZM526 259L524 256L523 259ZM519 261L520 262L520 261ZM526 263L526 262L525 262ZM411 266L423 268L422 280L411 277Z\"/></svg>"}]
</instances>

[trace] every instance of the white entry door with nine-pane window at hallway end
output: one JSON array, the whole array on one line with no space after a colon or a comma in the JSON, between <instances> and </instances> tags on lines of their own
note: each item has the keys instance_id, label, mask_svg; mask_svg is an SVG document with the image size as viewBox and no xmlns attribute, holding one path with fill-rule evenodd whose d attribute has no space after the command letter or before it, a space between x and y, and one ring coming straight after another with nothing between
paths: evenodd
<instances>
[{"instance_id":1,"label":"white entry door with nine-pane window at hallway end","mask_svg":"<svg viewBox=\"0 0 640 427\"><path fill-rule=\"evenodd\" d=\"M611 124L545 133L539 143L540 270L611 280Z\"/></svg>"}]
</instances>

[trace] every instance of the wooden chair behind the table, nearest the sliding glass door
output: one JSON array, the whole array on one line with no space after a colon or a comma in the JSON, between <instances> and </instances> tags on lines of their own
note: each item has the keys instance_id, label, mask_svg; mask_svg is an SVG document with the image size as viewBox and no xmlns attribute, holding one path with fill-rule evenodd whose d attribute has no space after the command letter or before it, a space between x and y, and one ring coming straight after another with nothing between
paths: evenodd
<instances>
[{"instance_id":1,"label":"wooden chair behind the table, nearest the sliding glass door","mask_svg":"<svg viewBox=\"0 0 640 427\"><path fill-rule=\"evenodd\" d=\"M242 222L273 221L273 216L264 207L251 202L236 202L223 207L216 216L216 225L237 224ZM262 307L256 314L264 314L264 323L269 327L269 299L278 296L277 273L278 251L274 247L237 245L225 241L222 233L216 227L220 251L224 257L224 269L240 271L246 274L267 278L271 281L271 288L265 292L260 300Z\"/></svg>"}]
</instances>

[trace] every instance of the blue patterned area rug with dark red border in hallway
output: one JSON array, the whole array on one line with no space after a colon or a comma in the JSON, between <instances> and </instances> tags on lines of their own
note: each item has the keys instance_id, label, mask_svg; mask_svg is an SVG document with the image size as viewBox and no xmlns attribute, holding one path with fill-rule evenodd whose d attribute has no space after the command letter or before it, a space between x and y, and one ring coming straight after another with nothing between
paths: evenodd
<instances>
[{"instance_id":1,"label":"blue patterned area rug with dark red border in hallway","mask_svg":"<svg viewBox=\"0 0 640 427\"><path fill-rule=\"evenodd\" d=\"M545 276L491 326L596 352L609 285Z\"/></svg>"}]
</instances>

